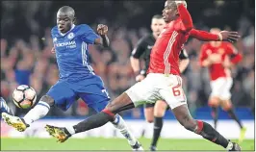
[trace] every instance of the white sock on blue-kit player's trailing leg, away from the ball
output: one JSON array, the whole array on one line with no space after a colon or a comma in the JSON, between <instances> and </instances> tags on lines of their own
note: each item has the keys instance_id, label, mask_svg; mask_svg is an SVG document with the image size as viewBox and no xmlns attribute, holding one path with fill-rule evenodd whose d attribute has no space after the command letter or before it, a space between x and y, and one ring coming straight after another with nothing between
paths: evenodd
<instances>
[{"instance_id":1,"label":"white sock on blue-kit player's trailing leg, away from the ball","mask_svg":"<svg viewBox=\"0 0 256 152\"><path fill-rule=\"evenodd\" d=\"M118 129L120 133L125 137L125 139L128 139L130 145L136 144L137 139L135 139L135 137L132 135L126 123L119 114L115 114L115 121L112 123L115 128Z\"/></svg>"}]
</instances>

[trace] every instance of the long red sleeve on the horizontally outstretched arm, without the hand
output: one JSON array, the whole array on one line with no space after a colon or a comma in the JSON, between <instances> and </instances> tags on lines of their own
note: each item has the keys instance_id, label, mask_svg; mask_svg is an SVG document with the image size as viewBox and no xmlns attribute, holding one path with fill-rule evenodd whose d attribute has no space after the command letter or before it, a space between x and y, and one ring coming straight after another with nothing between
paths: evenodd
<instances>
[{"instance_id":1,"label":"long red sleeve on the horizontally outstretched arm, without the hand","mask_svg":"<svg viewBox=\"0 0 256 152\"><path fill-rule=\"evenodd\" d=\"M217 41L218 40L218 35L211 34L206 31L195 30L195 29L192 29L190 31L190 37L197 38L197 39L203 40L203 41L211 41L211 40Z\"/></svg>"}]
</instances>

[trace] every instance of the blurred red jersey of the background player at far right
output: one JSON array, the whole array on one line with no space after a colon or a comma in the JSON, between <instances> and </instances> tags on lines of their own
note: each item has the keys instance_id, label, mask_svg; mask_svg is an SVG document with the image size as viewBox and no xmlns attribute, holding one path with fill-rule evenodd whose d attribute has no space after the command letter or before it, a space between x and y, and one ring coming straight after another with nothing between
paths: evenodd
<instances>
[{"instance_id":1,"label":"blurred red jersey of the background player at far right","mask_svg":"<svg viewBox=\"0 0 256 152\"><path fill-rule=\"evenodd\" d=\"M200 64L202 65L202 62L211 54L219 54L221 56L220 63L212 63L209 66L211 80L217 80L220 77L227 77L225 67L222 65L227 56L230 57L231 55L236 55L236 57L231 61L232 63L238 63L242 59L241 54L238 53L237 49L231 43L221 42L218 47L214 47L210 44L210 42L208 42L201 46L199 59Z\"/></svg>"}]
</instances>

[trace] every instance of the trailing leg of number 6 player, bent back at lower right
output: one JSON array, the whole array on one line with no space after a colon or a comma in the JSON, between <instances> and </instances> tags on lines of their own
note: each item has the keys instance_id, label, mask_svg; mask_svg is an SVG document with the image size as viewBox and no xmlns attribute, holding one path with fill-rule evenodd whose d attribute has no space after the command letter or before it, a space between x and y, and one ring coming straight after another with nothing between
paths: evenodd
<instances>
[{"instance_id":1,"label":"trailing leg of number 6 player, bent back at lower right","mask_svg":"<svg viewBox=\"0 0 256 152\"><path fill-rule=\"evenodd\" d=\"M183 125L187 130L202 136L204 139L208 139L218 145L221 145L229 151L241 151L239 144L225 139L210 124L193 119L187 104L172 109L172 112L180 124Z\"/></svg>"}]
</instances>

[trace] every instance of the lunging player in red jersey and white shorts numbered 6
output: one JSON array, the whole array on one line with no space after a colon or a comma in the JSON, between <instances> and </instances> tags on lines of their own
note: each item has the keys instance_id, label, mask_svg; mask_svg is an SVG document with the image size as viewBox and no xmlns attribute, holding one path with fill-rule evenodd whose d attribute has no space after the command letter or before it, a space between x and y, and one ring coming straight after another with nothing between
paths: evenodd
<instances>
[{"instance_id":1,"label":"lunging player in red jersey and white shorts numbered 6","mask_svg":"<svg viewBox=\"0 0 256 152\"><path fill-rule=\"evenodd\" d=\"M192 30L192 17L186 6L185 1L166 1L163 16L168 24L152 48L148 75L145 79L115 98L101 113L74 125L72 132L81 133L100 127L113 120L115 114L145 102L165 100L180 124L189 131L227 150L241 150L239 144L225 139L207 122L193 119L189 112L179 71L179 52ZM238 38L237 33L232 32L220 33L220 35L223 40ZM47 127L53 128L55 133L52 135L62 142L71 137L65 127L51 125Z\"/></svg>"}]
</instances>

